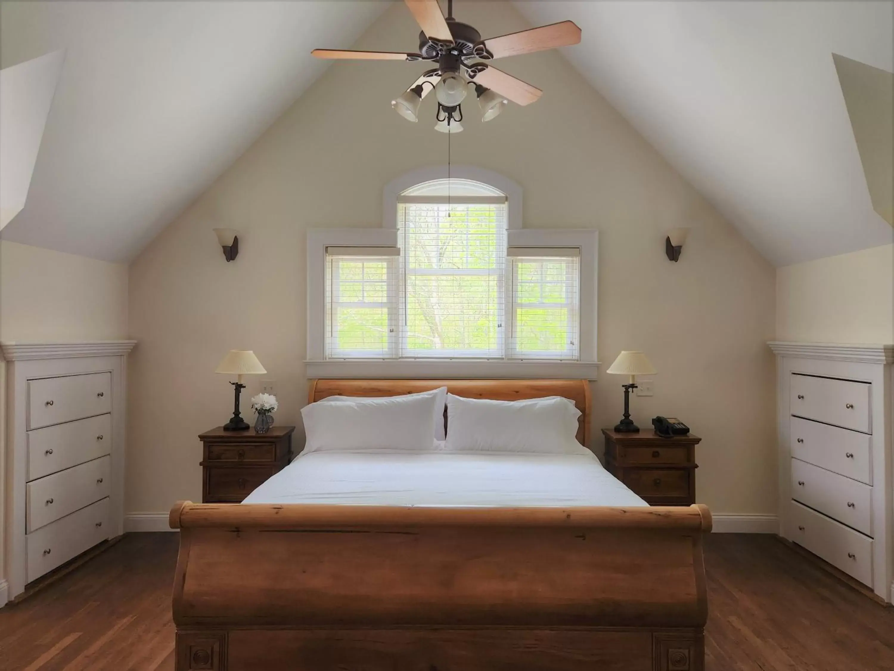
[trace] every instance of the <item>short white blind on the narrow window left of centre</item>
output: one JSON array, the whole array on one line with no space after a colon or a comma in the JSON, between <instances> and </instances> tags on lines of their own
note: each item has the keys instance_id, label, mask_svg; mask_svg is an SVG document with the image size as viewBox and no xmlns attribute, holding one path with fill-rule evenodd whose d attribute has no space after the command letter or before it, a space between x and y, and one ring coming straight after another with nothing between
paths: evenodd
<instances>
[{"instance_id":1,"label":"short white blind on the narrow window left of centre","mask_svg":"<svg viewBox=\"0 0 894 671\"><path fill-rule=\"evenodd\" d=\"M327 359L396 356L399 254L397 248L326 248Z\"/></svg>"}]
</instances>

